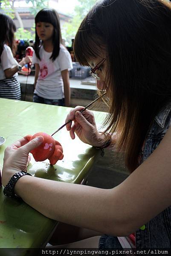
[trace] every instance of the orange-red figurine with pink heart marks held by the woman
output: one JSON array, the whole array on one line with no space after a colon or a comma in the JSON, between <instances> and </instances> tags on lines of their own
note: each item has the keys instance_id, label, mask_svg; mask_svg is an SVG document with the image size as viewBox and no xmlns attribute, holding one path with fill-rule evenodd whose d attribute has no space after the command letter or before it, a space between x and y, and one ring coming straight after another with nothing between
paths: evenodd
<instances>
[{"instance_id":1,"label":"orange-red figurine with pink heart marks held by the woman","mask_svg":"<svg viewBox=\"0 0 171 256\"><path fill-rule=\"evenodd\" d=\"M63 159L64 155L61 144L49 134L38 132L34 135L27 135L26 138L27 140L32 140L38 136L43 136L44 141L38 148L31 151L37 162L49 159L50 164L55 164L58 160Z\"/></svg>"}]
</instances>

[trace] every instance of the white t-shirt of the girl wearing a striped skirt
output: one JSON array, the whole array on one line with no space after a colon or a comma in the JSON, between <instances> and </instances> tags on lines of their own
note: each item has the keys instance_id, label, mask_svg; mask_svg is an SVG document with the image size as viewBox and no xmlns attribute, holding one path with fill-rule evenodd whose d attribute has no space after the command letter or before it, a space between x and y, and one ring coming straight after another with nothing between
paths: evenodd
<instances>
[{"instance_id":1,"label":"white t-shirt of the girl wearing a striped skirt","mask_svg":"<svg viewBox=\"0 0 171 256\"><path fill-rule=\"evenodd\" d=\"M6 79L4 70L13 68L17 65L18 63L13 57L11 48L4 44L3 52L0 56L0 80ZM15 73L13 76L18 76L18 73Z\"/></svg>"}]
</instances>

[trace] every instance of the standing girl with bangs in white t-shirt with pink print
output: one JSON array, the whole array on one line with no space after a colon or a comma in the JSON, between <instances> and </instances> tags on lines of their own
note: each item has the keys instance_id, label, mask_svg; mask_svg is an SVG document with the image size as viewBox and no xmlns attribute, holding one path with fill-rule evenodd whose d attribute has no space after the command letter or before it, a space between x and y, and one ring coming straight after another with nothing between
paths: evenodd
<instances>
[{"instance_id":1,"label":"standing girl with bangs in white t-shirt with pink print","mask_svg":"<svg viewBox=\"0 0 171 256\"><path fill-rule=\"evenodd\" d=\"M33 102L70 106L72 69L70 53L61 44L58 13L42 9L35 17L36 36L33 63L35 64L35 91Z\"/></svg>"}]
</instances>

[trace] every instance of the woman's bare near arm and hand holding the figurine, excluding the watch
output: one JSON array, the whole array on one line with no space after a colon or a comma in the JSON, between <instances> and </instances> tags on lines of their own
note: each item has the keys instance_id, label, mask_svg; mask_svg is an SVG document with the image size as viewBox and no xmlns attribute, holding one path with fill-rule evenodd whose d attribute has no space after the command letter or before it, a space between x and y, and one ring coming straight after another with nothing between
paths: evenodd
<instances>
[{"instance_id":1,"label":"woman's bare near arm and hand holding the figurine, excluding the watch","mask_svg":"<svg viewBox=\"0 0 171 256\"><path fill-rule=\"evenodd\" d=\"M23 152L26 158L33 145L38 146L35 142L32 147L30 144L15 148L14 153L11 148L6 151L3 185L19 170L16 166L24 159ZM171 205L171 127L150 157L113 189L23 176L17 181L15 192L49 218L113 236L126 236Z\"/></svg>"}]
</instances>

